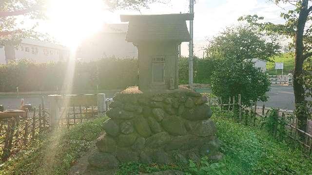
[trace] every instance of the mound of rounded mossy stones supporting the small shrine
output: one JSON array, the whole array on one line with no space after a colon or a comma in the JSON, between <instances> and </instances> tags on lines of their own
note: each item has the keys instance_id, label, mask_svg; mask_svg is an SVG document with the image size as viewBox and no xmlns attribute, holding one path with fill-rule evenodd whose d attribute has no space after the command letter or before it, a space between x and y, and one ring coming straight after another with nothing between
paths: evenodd
<instances>
[{"instance_id":1,"label":"mound of rounded mossy stones supporting the small shrine","mask_svg":"<svg viewBox=\"0 0 312 175\"><path fill-rule=\"evenodd\" d=\"M121 162L182 163L220 159L220 141L207 99L189 89L119 93L106 112L105 134L90 167L117 169Z\"/></svg>"}]
</instances>

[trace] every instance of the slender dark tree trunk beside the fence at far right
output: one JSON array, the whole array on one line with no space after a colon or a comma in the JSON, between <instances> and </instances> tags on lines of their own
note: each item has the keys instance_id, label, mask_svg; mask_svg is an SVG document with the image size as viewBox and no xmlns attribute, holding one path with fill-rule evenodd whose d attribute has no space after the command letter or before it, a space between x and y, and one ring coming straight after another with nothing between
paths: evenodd
<instances>
[{"instance_id":1,"label":"slender dark tree trunk beside the fence at far right","mask_svg":"<svg viewBox=\"0 0 312 175\"><path fill-rule=\"evenodd\" d=\"M308 1L302 1L302 7L299 13L298 23L296 26L296 35L295 35L295 66L294 66L294 73L293 73L293 91L294 91L294 99L295 99L295 106L296 106L296 115L299 120L299 129L306 131L307 129L307 113L303 108L306 106L300 107L300 105L305 105L305 90L303 88L302 74L303 74L303 33L304 27L307 22L307 18L309 15L308 12Z\"/></svg>"}]
</instances>

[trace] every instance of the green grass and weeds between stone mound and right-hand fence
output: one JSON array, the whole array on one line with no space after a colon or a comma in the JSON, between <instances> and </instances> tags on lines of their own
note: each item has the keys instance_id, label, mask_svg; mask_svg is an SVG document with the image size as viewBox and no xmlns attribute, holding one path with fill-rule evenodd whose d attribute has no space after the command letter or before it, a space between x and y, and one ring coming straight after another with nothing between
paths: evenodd
<instances>
[{"instance_id":1,"label":"green grass and weeds between stone mound and right-hand fence","mask_svg":"<svg viewBox=\"0 0 312 175\"><path fill-rule=\"evenodd\" d=\"M213 120L217 137L223 142L224 175L297 175L311 174L312 164L301 150L292 148L288 141L273 140L260 128L233 123L216 112ZM216 118L216 116L218 116ZM219 175L220 171L210 174Z\"/></svg>"}]
</instances>

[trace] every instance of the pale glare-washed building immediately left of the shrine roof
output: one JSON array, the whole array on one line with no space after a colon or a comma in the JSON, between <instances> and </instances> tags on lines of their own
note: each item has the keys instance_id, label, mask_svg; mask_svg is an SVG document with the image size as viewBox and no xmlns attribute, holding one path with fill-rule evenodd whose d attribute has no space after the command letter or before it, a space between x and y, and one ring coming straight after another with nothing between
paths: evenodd
<instances>
[{"instance_id":1,"label":"pale glare-washed building immediately left of the shrine roof","mask_svg":"<svg viewBox=\"0 0 312 175\"><path fill-rule=\"evenodd\" d=\"M137 47L126 41L128 24L105 24L101 32L83 40L76 58L81 61L105 57L137 58Z\"/></svg>"}]
</instances>

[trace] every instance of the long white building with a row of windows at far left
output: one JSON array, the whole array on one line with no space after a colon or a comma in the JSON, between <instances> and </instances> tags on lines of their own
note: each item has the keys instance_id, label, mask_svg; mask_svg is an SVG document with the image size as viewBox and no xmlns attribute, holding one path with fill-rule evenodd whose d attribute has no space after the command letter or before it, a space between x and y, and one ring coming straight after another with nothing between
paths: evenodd
<instances>
[{"instance_id":1,"label":"long white building with a row of windows at far left","mask_svg":"<svg viewBox=\"0 0 312 175\"><path fill-rule=\"evenodd\" d=\"M37 63L58 62L69 59L67 47L44 41L24 38L18 46L0 48L0 63L9 60L28 59Z\"/></svg>"}]
</instances>

